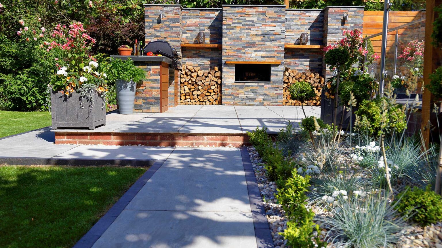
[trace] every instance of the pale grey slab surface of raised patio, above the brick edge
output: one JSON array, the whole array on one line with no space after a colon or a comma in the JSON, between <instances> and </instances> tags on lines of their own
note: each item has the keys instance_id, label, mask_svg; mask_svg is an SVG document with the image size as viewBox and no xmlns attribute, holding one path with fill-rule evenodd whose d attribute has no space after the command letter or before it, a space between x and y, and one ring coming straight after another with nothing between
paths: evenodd
<instances>
[{"instance_id":1,"label":"pale grey slab surface of raised patio, above the brick edge","mask_svg":"<svg viewBox=\"0 0 442 248\"><path fill-rule=\"evenodd\" d=\"M307 115L320 117L320 106L305 106ZM295 126L304 118L301 106L179 105L165 113L107 115L107 125L95 130L69 132L180 132L245 133L266 126L276 133L290 120Z\"/></svg>"}]
</instances>

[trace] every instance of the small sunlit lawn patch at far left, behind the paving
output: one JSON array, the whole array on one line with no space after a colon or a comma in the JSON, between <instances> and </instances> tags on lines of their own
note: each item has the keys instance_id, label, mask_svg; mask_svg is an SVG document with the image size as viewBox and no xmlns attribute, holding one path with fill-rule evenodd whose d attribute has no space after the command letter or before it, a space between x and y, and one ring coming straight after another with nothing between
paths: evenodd
<instances>
[{"instance_id":1,"label":"small sunlit lawn patch at far left, behind the paving","mask_svg":"<svg viewBox=\"0 0 442 248\"><path fill-rule=\"evenodd\" d=\"M0 138L50 126L50 112L16 112L0 110Z\"/></svg>"}]
</instances>

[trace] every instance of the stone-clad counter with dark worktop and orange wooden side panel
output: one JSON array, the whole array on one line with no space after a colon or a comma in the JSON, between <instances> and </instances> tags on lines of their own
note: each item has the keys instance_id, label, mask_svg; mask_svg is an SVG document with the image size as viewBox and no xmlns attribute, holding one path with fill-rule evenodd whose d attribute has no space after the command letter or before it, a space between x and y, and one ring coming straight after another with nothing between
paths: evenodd
<instances>
[{"instance_id":1,"label":"stone-clad counter with dark worktop and orange wooden side panel","mask_svg":"<svg viewBox=\"0 0 442 248\"><path fill-rule=\"evenodd\" d=\"M178 73L170 68L172 60L166 56L111 56L133 63L146 72L142 83L137 83L134 112L162 113L178 105Z\"/></svg>"}]
</instances>

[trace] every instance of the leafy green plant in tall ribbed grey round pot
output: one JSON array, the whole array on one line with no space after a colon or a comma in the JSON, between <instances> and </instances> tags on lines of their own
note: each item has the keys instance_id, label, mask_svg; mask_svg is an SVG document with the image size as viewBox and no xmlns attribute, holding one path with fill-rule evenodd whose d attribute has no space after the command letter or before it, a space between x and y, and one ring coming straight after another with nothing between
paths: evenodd
<instances>
[{"instance_id":1,"label":"leafy green plant in tall ribbed grey round pot","mask_svg":"<svg viewBox=\"0 0 442 248\"><path fill-rule=\"evenodd\" d=\"M135 66L130 58L127 60L113 58L108 64L107 74L109 81L115 82L120 114L133 113L137 82L146 78L145 71Z\"/></svg>"}]
</instances>

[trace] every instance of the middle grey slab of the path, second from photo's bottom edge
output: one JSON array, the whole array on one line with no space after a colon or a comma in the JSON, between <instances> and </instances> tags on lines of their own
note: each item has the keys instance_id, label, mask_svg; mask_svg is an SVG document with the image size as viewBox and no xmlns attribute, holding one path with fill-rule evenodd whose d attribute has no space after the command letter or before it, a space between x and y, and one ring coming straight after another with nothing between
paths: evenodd
<instances>
[{"instance_id":1,"label":"middle grey slab of the path, second from photo's bottom edge","mask_svg":"<svg viewBox=\"0 0 442 248\"><path fill-rule=\"evenodd\" d=\"M244 170L159 169L126 210L250 212Z\"/></svg>"}]
</instances>

